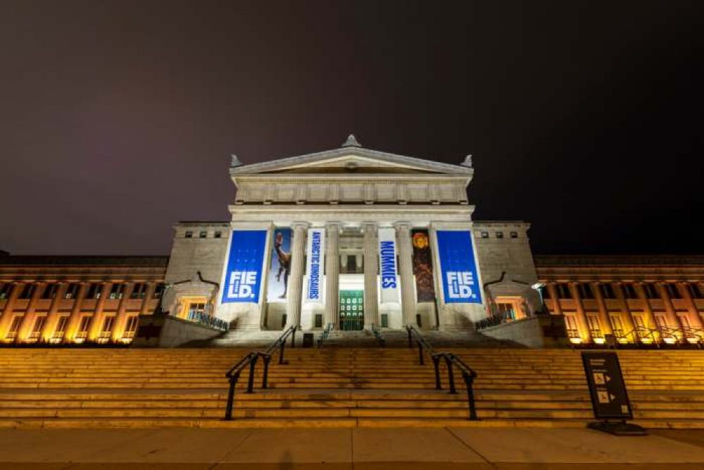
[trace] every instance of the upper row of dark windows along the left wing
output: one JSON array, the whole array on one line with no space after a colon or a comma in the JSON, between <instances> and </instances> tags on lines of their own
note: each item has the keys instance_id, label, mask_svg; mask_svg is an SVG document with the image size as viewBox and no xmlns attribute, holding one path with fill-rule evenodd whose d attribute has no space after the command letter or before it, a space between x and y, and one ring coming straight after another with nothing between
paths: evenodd
<instances>
[{"instance_id":1,"label":"upper row of dark windows along the left wing","mask_svg":"<svg viewBox=\"0 0 704 470\"><path fill-rule=\"evenodd\" d=\"M103 288L105 283L89 283L86 287L86 293L84 298L86 299L99 299L103 295ZM4 283L0 285L0 299L8 299L13 290L14 283ZM54 299L58 295L58 283L49 283L44 287L41 293L39 293L40 299ZM66 290L63 293L64 299L75 299L78 297L80 291L80 283L70 283L66 286ZM144 299L147 295L149 285L147 283L135 283L132 286L132 292L130 293L130 299ZM18 295L18 299L31 299L34 297L37 289L40 285L37 283L26 283ZM122 299L125 295L125 290L127 288L126 283L113 283L111 285L109 292L107 292L108 299ZM164 285L157 284L154 288L153 295L151 298L158 299L164 292Z\"/></svg>"}]
</instances>

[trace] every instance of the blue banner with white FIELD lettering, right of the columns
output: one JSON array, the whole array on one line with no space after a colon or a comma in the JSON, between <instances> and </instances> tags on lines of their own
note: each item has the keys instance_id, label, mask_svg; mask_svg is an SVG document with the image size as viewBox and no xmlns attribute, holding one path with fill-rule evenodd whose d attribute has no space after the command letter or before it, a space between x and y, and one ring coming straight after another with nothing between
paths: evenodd
<instances>
[{"instance_id":1,"label":"blue banner with white FIELD lettering, right of the columns","mask_svg":"<svg viewBox=\"0 0 704 470\"><path fill-rule=\"evenodd\" d=\"M481 304L482 289L468 230L438 230L438 255L446 304Z\"/></svg>"}]
</instances>

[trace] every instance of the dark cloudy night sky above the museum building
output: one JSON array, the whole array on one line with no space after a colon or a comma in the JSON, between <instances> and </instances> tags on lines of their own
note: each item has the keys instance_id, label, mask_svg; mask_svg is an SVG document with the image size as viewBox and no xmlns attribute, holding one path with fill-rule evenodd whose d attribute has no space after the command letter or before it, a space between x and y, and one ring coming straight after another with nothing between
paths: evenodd
<instances>
[{"instance_id":1,"label":"dark cloudy night sky above the museum building","mask_svg":"<svg viewBox=\"0 0 704 470\"><path fill-rule=\"evenodd\" d=\"M704 2L4 1L0 249L167 254L244 163L474 155L539 253L704 253Z\"/></svg>"}]
</instances>

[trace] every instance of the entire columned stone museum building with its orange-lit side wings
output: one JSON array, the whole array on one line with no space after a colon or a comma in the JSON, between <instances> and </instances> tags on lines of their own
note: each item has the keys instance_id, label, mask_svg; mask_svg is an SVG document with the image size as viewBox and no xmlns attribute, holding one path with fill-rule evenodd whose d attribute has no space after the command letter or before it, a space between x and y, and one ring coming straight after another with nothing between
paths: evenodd
<instances>
[{"instance_id":1,"label":"entire columned stone museum building with its orange-lit side wings","mask_svg":"<svg viewBox=\"0 0 704 470\"><path fill-rule=\"evenodd\" d=\"M353 136L233 156L231 220L177 223L170 256L0 253L0 340L131 342L159 309L244 335L410 324L510 339L506 325L549 312L573 344L702 342L704 256L534 256L528 223L472 220L473 173L471 156L439 163Z\"/></svg>"}]
</instances>

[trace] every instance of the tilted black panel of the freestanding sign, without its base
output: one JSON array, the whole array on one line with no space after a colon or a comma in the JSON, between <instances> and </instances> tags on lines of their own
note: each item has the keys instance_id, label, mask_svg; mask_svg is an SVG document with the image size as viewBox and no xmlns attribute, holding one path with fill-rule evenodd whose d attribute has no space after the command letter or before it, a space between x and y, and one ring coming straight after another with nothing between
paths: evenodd
<instances>
[{"instance_id":1,"label":"tilted black panel of the freestanding sign, without its base","mask_svg":"<svg viewBox=\"0 0 704 470\"><path fill-rule=\"evenodd\" d=\"M582 364L594 417L633 419L618 355L615 352L582 352Z\"/></svg>"}]
</instances>

